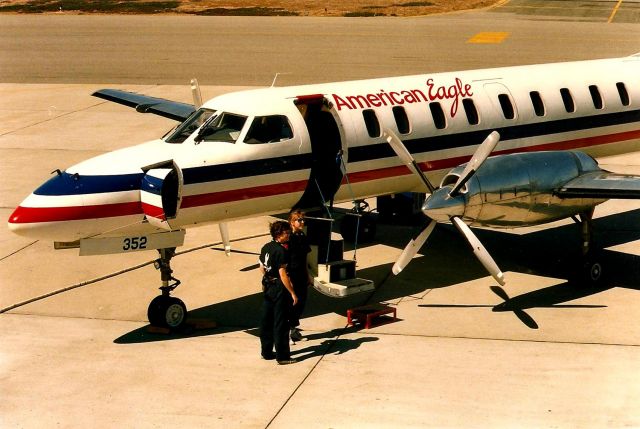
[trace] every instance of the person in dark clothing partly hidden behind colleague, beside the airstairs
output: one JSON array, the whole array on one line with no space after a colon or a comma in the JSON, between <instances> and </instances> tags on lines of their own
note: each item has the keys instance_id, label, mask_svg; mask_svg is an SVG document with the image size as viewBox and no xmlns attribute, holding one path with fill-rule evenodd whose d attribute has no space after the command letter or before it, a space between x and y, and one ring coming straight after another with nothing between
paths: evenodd
<instances>
[{"instance_id":1,"label":"person in dark clothing partly hidden behind colleague, beside the airstairs","mask_svg":"<svg viewBox=\"0 0 640 429\"><path fill-rule=\"evenodd\" d=\"M304 215L305 213L298 209L289 213L291 236L289 237L290 261L287 272L293 284L293 290L298 297L298 304L294 305L289 312L289 336L294 343L303 339L298 326L300 326L300 317L307 302L309 285L313 284L313 278L309 275L307 264L307 254L311 252L311 247L303 231Z\"/></svg>"}]
</instances>

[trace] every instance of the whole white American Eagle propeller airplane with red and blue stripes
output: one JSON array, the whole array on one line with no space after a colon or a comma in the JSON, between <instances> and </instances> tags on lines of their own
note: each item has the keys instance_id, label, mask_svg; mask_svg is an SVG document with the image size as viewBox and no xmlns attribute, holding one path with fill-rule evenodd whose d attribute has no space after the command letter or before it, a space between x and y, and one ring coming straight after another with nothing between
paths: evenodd
<instances>
[{"instance_id":1,"label":"whole white American Eagle propeller airplane with red and blue stripes","mask_svg":"<svg viewBox=\"0 0 640 429\"><path fill-rule=\"evenodd\" d=\"M11 214L21 236L80 255L157 250L162 294L151 324L177 328L186 306L171 259L185 232L328 201L430 194L428 227L451 221L500 284L468 225L513 228L573 217L590 248L593 208L638 198L634 176L593 157L640 150L640 54L415 76L260 88L193 104L123 90L93 95L178 121L162 138L56 170ZM499 143L499 148L495 150ZM472 159L469 164L466 161ZM52 174L53 174L52 173ZM442 180L435 188L432 183ZM589 267L599 277L601 267Z\"/></svg>"}]
</instances>

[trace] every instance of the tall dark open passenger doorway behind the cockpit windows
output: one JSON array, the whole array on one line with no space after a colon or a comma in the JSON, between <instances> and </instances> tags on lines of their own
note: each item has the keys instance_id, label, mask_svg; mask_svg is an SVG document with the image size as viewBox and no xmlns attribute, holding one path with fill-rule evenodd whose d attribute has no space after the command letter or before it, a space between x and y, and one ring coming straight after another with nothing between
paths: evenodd
<instances>
[{"instance_id":1,"label":"tall dark open passenger doorway behind the cockpit windows","mask_svg":"<svg viewBox=\"0 0 640 429\"><path fill-rule=\"evenodd\" d=\"M333 104L323 94L299 96L295 104L309 132L312 157L309 183L295 207L320 207L333 201L342 183L344 129Z\"/></svg>"}]
</instances>

